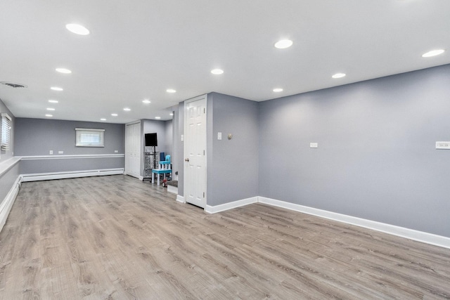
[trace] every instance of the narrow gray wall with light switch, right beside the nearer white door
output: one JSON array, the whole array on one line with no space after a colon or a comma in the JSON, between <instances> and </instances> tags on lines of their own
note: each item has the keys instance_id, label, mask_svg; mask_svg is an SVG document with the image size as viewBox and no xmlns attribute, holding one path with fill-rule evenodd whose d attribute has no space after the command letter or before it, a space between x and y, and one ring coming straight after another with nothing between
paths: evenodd
<instances>
[{"instance_id":1,"label":"narrow gray wall with light switch, right beside the nearer white door","mask_svg":"<svg viewBox=\"0 0 450 300\"><path fill-rule=\"evenodd\" d=\"M207 99L207 204L258 195L258 103L220 93ZM217 133L222 133L221 141ZM227 135L233 134L229 140Z\"/></svg>"}]
</instances>

